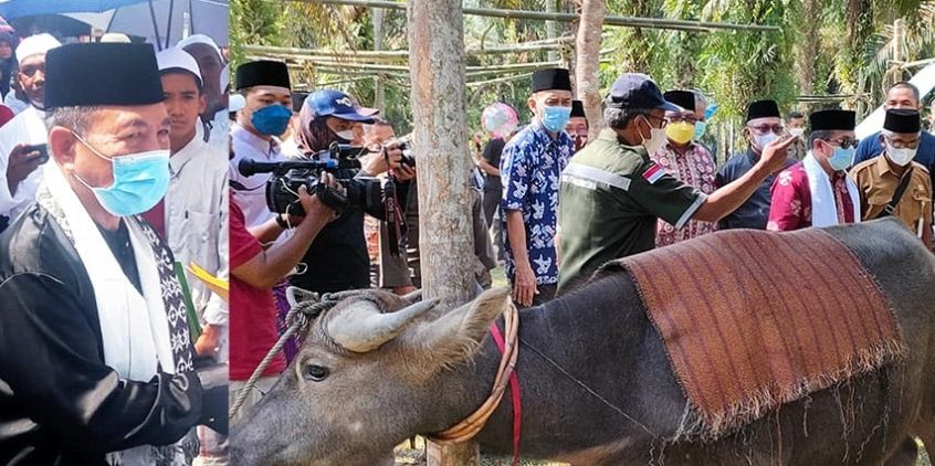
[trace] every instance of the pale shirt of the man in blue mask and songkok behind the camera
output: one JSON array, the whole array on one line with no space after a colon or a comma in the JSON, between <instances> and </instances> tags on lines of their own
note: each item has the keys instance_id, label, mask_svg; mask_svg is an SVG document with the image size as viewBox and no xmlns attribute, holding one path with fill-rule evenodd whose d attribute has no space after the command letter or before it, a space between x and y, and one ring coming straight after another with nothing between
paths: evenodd
<instances>
[{"instance_id":1,"label":"pale shirt of the man in blue mask and songkok behind the camera","mask_svg":"<svg viewBox=\"0 0 935 466\"><path fill-rule=\"evenodd\" d=\"M275 215L266 205L266 181L270 179L270 173L244 177L240 174L238 163L241 160L277 162L286 158L275 138L269 141L263 140L238 124L231 126L231 139L234 157L230 162L230 179L232 184L239 184L233 188L233 199L243 211L246 227L256 226Z\"/></svg>"}]
</instances>

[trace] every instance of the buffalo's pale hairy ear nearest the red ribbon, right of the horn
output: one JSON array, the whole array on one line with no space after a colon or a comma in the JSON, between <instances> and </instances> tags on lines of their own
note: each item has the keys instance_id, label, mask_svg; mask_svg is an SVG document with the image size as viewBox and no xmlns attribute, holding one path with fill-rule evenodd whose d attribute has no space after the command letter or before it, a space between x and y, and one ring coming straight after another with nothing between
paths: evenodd
<instances>
[{"instance_id":1,"label":"buffalo's pale hairy ear nearest the red ribbon, right of the horn","mask_svg":"<svg viewBox=\"0 0 935 466\"><path fill-rule=\"evenodd\" d=\"M491 322L512 305L509 288L490 289L435 320L407 331L403 346L414 350L423 370L439 370L470 360L486 337Z\"/></svg>"}]
</instances>

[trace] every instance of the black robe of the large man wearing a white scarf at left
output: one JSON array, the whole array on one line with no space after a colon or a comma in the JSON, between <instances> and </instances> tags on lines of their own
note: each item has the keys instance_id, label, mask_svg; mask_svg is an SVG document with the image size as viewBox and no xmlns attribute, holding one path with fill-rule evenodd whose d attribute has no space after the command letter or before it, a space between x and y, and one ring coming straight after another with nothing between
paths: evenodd
<instances>
[{"instance_id":1,"label":"black robe of the large man wearing a white scarf at left","mask_svg":"<svg viewBox=\"0 0 935 466\"><path fill-rule=\"evenodd\" d=\"M0 235L0 464L103 464L200 417L195 372L135 382L105 366L87 272L43 208Z\"/></svg>"}]
</instances>

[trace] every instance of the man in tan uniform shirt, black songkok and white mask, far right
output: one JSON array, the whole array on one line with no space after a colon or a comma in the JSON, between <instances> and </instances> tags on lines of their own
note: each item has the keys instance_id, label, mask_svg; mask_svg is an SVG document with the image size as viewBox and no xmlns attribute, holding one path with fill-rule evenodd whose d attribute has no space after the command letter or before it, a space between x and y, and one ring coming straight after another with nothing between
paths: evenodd
<instances>
[{"instance_id":1,"label":"man in tan uniform shirt, black songkok and white mask, far right","mask_svg":"<svg viewBox=\"0 0 935 466\"><path fill-rule=\"evenodd\" d=\"M932 178L915 161L922 142L918 112L890 109L883 121L883 153L851 169L862 220L895 215L932 247ZM901 188L902 187L902 188Z\"/></svg>"}]
</instances>

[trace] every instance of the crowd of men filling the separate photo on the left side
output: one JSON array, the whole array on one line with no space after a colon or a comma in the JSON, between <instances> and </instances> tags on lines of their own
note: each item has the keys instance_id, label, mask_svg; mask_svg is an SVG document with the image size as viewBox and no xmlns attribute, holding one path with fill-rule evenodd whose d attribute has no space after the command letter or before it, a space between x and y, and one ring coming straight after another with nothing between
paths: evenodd
<instances>
[{"instance_id":1,"label":"crowd of men filling the separate photo on the left side","mask_svg":"<svg viewBox=\"0 0 935 466\"><path fill-rule=\"evenodd\" d=\"M0 34L0 463L224 464L227 56L60 39Z\"/></svg>"}]
</instances>

